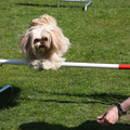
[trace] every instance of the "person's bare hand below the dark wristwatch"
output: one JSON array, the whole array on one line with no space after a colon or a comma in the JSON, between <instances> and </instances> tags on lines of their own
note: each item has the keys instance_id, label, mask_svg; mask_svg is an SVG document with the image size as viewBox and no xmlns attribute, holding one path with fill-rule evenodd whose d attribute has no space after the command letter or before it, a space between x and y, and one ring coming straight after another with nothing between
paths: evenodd
<instances>
[{"instance_id":1,"label":"person's bare hand below the dark wristwatch","mask_svg":"<svg viewBox=\"0 0 130 130\"><path fill-rule=\"evenodd\" d=\"M115 106L104 115L98 117L98 123L102 126L114 125L119 119L118 108Z\"/></svg>"}]
</instances>

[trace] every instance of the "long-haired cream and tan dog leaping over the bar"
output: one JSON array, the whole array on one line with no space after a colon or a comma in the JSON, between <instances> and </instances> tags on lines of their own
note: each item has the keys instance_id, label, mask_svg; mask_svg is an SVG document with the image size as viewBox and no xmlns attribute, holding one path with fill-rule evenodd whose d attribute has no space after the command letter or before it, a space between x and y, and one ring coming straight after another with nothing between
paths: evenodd
<instances>
[{"instance_id":1,"label":"long-haired cream and tan dog leaping over the bar","mask_svg":"<svg viewBox=\"0 0 130 130\"><path fill-rule=\"evenodd\" d=\"M32 20L20 39L20 49L26 64L36 70L60 68L65 61L62 56L69 46L69 39L63 35L56 20L48 14Z\"/></svg>"}]
</instances>

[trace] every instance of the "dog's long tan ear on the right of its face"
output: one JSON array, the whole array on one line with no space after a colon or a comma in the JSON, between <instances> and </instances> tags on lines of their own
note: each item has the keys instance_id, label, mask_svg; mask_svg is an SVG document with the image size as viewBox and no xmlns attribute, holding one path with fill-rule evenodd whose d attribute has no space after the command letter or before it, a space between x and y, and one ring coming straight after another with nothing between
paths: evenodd
<instances>
[{"instance_id":1,"label":"dog's long tan ear on the right of its face","mask_svg":"<svg viewBox=\"0 0 130 130\"><path fill-rule=\"evenodd\" d=\"M52 48L57 54L63 55L69 48L69 39L63 35L62 29L58 27L55 27L51 30L51 37Z\"/></svg>"}]
</instances>

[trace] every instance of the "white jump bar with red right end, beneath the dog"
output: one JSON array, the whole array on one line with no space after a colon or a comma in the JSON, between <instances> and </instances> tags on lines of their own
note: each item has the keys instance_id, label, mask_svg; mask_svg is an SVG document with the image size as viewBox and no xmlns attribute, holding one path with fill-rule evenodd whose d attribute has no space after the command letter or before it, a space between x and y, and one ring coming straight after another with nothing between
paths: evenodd
<instances>
[{"instance_id":1,"label":"white jump bar with red right end, beneath the dog","mask_svg":"<svg viewBox=\"0 0 130 130\"><path fill-rule=\"evenodd\" d=\"M21 60L0 60L2 64L26 65L25 61ZM113 68L113 69L130 69L130 64L99 64L99 63L73 63L64 62L65 67L88 67L88 68Z\"/></svg>"}]
</instances>

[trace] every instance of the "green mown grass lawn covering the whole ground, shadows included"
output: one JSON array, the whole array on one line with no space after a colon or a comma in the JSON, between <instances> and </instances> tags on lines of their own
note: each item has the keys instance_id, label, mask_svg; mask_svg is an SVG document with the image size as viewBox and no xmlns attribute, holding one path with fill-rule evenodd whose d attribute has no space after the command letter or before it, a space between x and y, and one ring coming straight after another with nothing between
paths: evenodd
<instances>
[{"instance_id":1,"label":"green mown grass lawn covering the whole ground, shadows included","mask_svg":"<svg viewBox=\"0 0 130 130\"><path fill-rule=\"evenodd\" d=\"M72 47L67 62L130 64L130 1L1 0L0 58L21 60L18 38L42 14L57 20ZM0 130L129 130L130 116L109 127L96 117L130 95L130 70L61 67L36 72L0 66Z\"/></svg>"}]
</instances>

